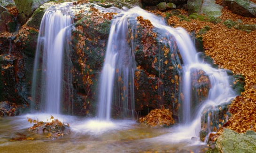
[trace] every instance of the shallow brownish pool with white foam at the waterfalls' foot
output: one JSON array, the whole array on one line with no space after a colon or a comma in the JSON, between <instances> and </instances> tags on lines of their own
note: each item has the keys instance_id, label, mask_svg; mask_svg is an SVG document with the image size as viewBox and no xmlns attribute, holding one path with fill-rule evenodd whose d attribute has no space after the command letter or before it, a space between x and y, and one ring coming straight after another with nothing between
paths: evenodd
<instances>
[{"instance_id":1,"label":"shallow brownish pool with white foam at the waterfalls' foot","mask_svg":"<svg viewBox=\"0 0 256 153\"><path fill-rule=\"evenodd\" d=\"M54 115L53 115L54 116ZM96 119L70 115L55 118L70 124L71 134L61 138L48 138L47 133L34 133L28 129L33 123L28 118L47 122L49 114L28 114L0 117L1 153L205 153L206 144L191 139L186 127L142 127L136 121ZM25 136L33 140L17 140Z\"/></svg>"}]
</instances>

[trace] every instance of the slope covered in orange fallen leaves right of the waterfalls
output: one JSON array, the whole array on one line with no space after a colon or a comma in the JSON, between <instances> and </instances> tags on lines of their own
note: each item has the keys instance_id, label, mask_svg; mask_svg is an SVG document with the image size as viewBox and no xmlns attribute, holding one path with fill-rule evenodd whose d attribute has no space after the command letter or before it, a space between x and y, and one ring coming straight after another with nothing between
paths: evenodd
<instances>
[{"instance_id":1,"label":"slope covered in orange fallen leaves right of the waterfalls","mask_svg":"<svg viewBox=\"0 0 256 153\"><path fill-rule=\"evenodd\" d=\"M181 13L188 17L185 11ZM205 54L212 57L219 68L230 69L234 74L245 77L245 92L236 97L231 104L232 116L228 128L242 133L246 130L256 131L256 31L248 33L234 27L229 29L222 24L227 19L235 22L240 19L240 24L255 24L256 18L235 15L227 7L222 9L219 18L221 22L215 24L199 19L190 19L190 22L180 21L179 17L171 16L168 23L196 33L206 25L210 27L209 31L201 35Z\"/></svg>"}]
</instances>

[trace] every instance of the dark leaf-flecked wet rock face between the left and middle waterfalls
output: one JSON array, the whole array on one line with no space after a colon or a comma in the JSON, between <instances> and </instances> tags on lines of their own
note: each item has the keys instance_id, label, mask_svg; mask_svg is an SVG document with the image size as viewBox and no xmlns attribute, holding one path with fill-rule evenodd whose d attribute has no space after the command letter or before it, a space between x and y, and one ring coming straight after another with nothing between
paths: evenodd
<instances>
[{"instance_id":1,"label":"dark leaf-flecked wet rock face between the left and middle waterfalls","mask_svg":"<svg viewBox=\"0 0 256 153\"><path fill-rule=\"evenodd\" d=\"M81 17L72 31L73 110L77 115L94 114L101 69L104 63L113 14L97 12ZM109 15L103 18L101 15ZM101 18L101 19L100 19Z\"/></svg>"}]
</instances>

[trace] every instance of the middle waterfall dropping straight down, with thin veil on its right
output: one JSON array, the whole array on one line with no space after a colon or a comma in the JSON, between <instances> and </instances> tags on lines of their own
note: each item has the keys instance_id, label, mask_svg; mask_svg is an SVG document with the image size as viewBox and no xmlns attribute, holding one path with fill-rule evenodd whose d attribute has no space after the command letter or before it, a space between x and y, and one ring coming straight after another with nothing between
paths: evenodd
<instances>
[{"instance_id":1,"label":"middle waterfall dropping straight down, with thin veil on its right","mask_svg":"<svg viewBox=\"0 0 256 153\"><path fill-rule=\"evenodd\" d=\"M134 117L133 77L136 65L134 46L127 42L127 22L124 15L111 25L98 98L97 117L100 120L110 120L112 101L116 101L116 108L123 113L123 118Z\"/></svg>"}]
</instances>

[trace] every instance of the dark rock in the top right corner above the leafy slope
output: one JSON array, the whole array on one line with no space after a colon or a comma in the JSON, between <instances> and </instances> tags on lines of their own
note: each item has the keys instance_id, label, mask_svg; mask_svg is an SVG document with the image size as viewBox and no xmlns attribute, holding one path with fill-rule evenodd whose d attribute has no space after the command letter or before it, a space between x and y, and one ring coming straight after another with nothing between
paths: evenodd
<instances>
[{"instance_id":1,"label":"dark rock in the top right corner above the leafy slope","mask_svg":"<svg viewBox=\"0 0 256 153\"><path fill-rule=\"evenodd\" d=\"M234 14L245 17L256 17L256 4L250 0L224 0L224 4Z\"/></svg>"}]
</instances>

